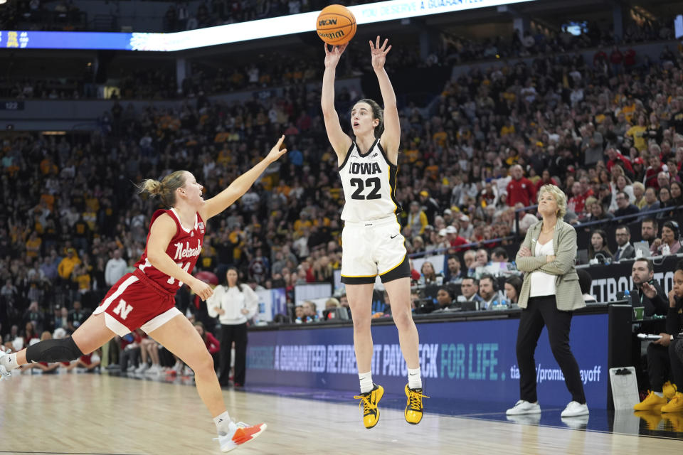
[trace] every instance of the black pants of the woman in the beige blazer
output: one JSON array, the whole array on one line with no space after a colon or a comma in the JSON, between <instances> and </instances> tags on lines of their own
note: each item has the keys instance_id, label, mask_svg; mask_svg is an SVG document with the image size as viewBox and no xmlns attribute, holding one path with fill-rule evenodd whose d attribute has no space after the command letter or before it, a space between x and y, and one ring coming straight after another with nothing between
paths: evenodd
<instances>
[{"instance_id":1,"label":"black pants of the woman in the beige blazer","mask_svg":"<svg viewBox=\"0 0 683 455\"><path fill-rule=\"evenodd\" d=\"M571 311L559 311L555 296L531 297L526 309L521 311L517 331L517 363L519 364L519 397L536 402L536 360L534 351L543 326L548 328L548 338L553 355L564 375L564 382L571 393L571 400L586 402L578 363L569 348Z\"/></svg>"}]
</instances>

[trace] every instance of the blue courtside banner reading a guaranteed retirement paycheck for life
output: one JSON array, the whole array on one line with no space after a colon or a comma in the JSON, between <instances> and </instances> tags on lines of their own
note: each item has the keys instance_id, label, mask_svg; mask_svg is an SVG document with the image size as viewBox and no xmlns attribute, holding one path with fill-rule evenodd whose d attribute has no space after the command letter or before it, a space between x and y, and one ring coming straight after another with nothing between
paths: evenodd
<instances>
[{"instance_id":1,"label":"blue courtside banner reading a guaranteed retirement paycheck for life","mask_svg":"<svg viewBox=\"0 0 683 455\"><path fill-rule=\"evenodd\" d=\"M577 315L571 348L591 407L607 407L608 315ZM418 323L420 369L433 398L514 403L519 399L515 354L519 319ZM372 328L374 382L401 393L406 363L394 326ZM327 388L356 392L358 375L352 327L250 331L247 380L253 385ZM549 346L546 329L536 348L539 400L546 406L571 401Z\"/></svg>"}]
</instances>

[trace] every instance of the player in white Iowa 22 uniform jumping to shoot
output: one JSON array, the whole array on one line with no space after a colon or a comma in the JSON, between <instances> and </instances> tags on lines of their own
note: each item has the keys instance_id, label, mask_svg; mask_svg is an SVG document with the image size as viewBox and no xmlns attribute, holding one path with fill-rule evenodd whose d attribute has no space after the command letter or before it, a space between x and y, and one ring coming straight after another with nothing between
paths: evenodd
<instances>
[{"instance_id":1,"label":"player in white Iowa 22 uniform jumping to shoot","mask_svg":"<svg viewBox=\"0 0 683 455\"><path fill-rule=\"evenodd\" d=\"M398 341L408 367L406 421L422 419L422 378L418 355L418 330L411 313L411 269L401 225L401 211L394 199L398 172L401 127L396 94L384 70L388 40L370 41L372 68L377 75L384 110L373 100L360 100L351 109L355 139L347 136L334 110L334 73L346 45L325 45L325 73L322 79L322 113L332 148L337 153L339 175L344 188L344 230L342 231L342 282L354 320L354 348L361 384L363 423L374 427L379 420L377 403L384 394L372 382L372 334L370 331L372 291L377 274L391 302L391 314L398 328Z\"/></svg>"}]
</instances>

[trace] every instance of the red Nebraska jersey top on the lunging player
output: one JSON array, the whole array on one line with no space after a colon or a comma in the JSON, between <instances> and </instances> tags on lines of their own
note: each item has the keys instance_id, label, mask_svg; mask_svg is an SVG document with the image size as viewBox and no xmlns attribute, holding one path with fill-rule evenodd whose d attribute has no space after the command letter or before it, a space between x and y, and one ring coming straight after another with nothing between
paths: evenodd
<instances>
[{"instance_id":1,"label":"red Nebraska jersey top on the lunging player","mask_svg":"<svg viewBox=\"0 0 683 455\"><path fill-rule=\"evenodd\" d=\"M176 235L174 235L171 242L169 242L169 247L166 248L166 255L169 255L176 264L191 274L192 269L194 269L194 264L196 264L199 257L199 253L201 253L201 245L204 240L203 220L201 219L201 216L199 216L199 213L196 213L194 226L191 230L186 230L180 224L180 218L174 209L157 210L154 212L154 215L152 215L152 221L149 223L150 230L152 229L154 220L164 213L168 213L176 222ZM147 244L149 245L149 232L147 233ZM160 272L149 263L149 260L147 259L147 247L145 247L144 253L142 253L142 257L137 264L135 264L135 267L171 294L176 294L178 288L183 285L182 282Z\"/></svg>"}]
</instances>

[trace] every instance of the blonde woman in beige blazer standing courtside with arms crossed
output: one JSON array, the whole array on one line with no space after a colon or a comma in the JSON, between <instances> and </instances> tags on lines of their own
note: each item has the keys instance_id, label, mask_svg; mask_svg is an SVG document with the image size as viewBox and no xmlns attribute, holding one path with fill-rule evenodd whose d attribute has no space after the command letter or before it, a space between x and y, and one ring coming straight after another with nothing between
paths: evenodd
<instances>
[{"instance_id":1,"label":"blonde woman in beige blazer standing courtside with arms crossed","mask_svg":"<svg viewBox=\"0 0 683 455\"><path fill-rule=\"evenodd\" d=\"M529 228L517 252L517 269L526 272L519 293L522 310L517 331L520 396L506 414L541 412L536 398L534 350L546 326L553 355L571 393L571 402L561 416L578 417L588 414L588 406L578 363L569 348L572 311L586 306L574 268L576 231L562 220L567 198L560 188L541 186L538 197L543 220Z\"/></svg>"}]
</instances>

